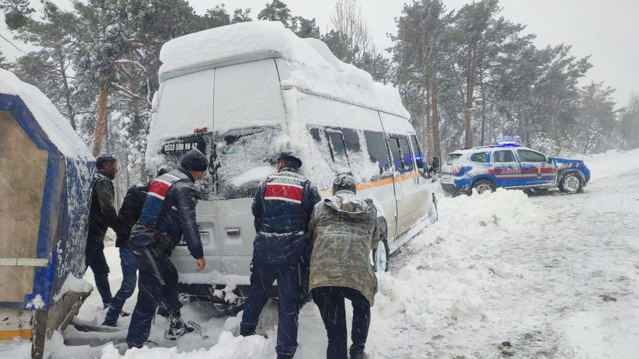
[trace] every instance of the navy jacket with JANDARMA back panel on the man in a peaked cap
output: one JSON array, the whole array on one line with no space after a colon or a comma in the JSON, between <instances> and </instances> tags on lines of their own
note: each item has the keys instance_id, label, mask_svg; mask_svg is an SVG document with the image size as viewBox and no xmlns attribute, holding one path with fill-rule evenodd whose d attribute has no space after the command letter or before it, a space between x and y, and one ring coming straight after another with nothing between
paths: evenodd
<instances>
[{"instance_id":1,"label":"navy jacket with JANDARMA back panel on the man in a peaked cap","mask_svg":"<svg viewBox=\"0 0 639 359\"><path fill-rule=\"evenodd\" d=\"M282 168L259 184L253 198L255 264L307 263L309 220L321 201L317 188L295 169Z\"/></svg>"}]
</instances>

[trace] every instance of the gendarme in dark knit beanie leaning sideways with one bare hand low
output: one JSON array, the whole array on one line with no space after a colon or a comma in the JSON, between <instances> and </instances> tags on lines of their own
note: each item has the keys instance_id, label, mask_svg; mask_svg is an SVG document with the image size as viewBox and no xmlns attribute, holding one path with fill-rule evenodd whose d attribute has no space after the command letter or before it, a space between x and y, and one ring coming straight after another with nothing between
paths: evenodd
<instances>
[{"instance_id":1,"label":"gendarme in dark knit beanie leaning sideways with one bare hand low","mask_svg":"<svg viewBox=\"0 0 639 359\"><path fill-rule=\"evenodd\" d=\"M149 187L142 215L131 231L129 245L139 270L139 293L128 328L129 348L141 348L149 337L151 321L160 298L169 317L169 339L177 339L194 328L182 320L178 299L178 272L169 260L183 235L197 261L197 270L206 266L197 233L194 182L204 176L206 157L192 149L181 160L181 168L159 176Z\"/></svg>"}]
</instances>

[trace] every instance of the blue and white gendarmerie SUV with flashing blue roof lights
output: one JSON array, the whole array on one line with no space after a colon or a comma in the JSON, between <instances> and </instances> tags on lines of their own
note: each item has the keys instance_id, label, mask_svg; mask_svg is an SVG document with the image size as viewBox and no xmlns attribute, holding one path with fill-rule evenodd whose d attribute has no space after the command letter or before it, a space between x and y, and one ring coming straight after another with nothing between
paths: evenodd
<instances>
[{"instance_id":1,"label":"blue and white gendarmerie SUV with flashing blue roof lights","mask_svg":"<svg viewBox=\"0 0 639 359\"><path fill-rule=\"evenodd\" d=\"M442 165L442 188L451 194L480 194L497 187L543 193L558 187L581 192L590 181L590 170L581 160L548 157L515 141L459 149Z\"/></svg>"}]
</instances>

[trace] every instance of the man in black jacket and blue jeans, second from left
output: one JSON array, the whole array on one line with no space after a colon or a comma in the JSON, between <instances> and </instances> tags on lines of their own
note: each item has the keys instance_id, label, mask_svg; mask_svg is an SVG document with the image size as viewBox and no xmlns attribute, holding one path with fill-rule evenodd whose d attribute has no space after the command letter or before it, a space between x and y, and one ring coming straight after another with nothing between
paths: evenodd
<instances>
[{"instance_id":1,"label":"man in black jacket and blue jeans, second from left","mask_svg":"<svg viewBox=\"0 0 639 359\"><path fill-rule=\"evenodd\" d=\"M169 172L167 167L160 167L158 177L167 172ZM128 238L131 236L131 229L133 229L133 226L142 214L142 206L144 206L144 200L146 200L146 194L149 192L150 185L151 181L147 183L137 183L131 186L118 211L116 247L119 248L120 266L122 267L122 284L118 293L113 296L111 306L102 325L117 326L119 316L128 316L130 314L123 312L122 307L124 307L124 303L127 302L127 299L130 298L135 291L135 282L137 282L137 259L135 259L135 253L128 245Z\"/></svg>"}]
</instances>

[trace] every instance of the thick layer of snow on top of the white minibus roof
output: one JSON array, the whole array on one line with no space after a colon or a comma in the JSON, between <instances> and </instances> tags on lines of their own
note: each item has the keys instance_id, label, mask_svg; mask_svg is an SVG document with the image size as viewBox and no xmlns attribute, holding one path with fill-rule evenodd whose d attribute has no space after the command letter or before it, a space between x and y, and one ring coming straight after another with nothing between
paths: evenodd
<instances>
[{"instance_id":1,"label":"thick layer of snow on top of the white minibus roof","mask_svg":"<svg viewBox=\"0 0 639 359\"><path fill-rule=\"evenodd\" d=\"M175 38L160 51L160 79L256 52L286 59L291 76L282 86L410 118L396 88L374 82L366 71L337 59L325 43L299 38L279 21L241 22Z\"/></svg>"}]
</instances>

